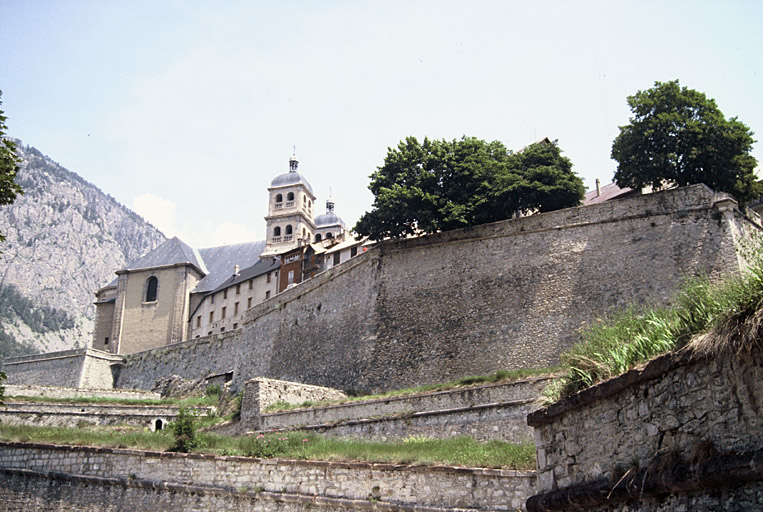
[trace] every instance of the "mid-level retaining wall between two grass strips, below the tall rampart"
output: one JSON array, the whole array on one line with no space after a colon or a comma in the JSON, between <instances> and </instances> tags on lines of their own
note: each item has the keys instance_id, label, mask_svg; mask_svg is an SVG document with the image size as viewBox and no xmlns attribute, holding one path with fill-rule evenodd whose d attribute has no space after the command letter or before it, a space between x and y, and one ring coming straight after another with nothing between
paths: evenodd
<instances>
[{"instance_id":1,"label":"mid-level retaining wall between two grass strips, below the tall rampart","mask_svg":"<svg viewBox=\"0 0 763 512\"><path fill-rule=\"evenodd\" d=\"M548 381L535 378L265 413L259 416L258 430L316 430L364 439L469 435L479 440L526 441L533 435L527 414L538 409Z\"/></svg>"}]
</instances>

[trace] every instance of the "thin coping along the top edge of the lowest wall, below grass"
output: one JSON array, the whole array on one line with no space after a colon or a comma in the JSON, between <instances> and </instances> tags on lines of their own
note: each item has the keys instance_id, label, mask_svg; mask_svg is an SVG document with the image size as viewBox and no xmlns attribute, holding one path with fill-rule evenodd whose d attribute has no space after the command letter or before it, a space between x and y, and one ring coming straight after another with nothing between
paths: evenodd
<instances>
[{"instance_id":1,"label":"thin coping along the top edge of the lowest wall, below grass","mask_svg":"<svg viewBox=\"0 0 763 512\"><path fill-rule=\"evenodd\" d=\"M132 455L138 457L156 457L160 459L189 459L189 460L218 460L230 462L258 463L266 465L286 464L290 466L301 466L311 468L341 468L353 470L381 470L381 471L402 471L409 473L447 473L452 475L481 475L506 478L534 478L535 471L521 471L516 469L495 469L495 468L470 468L464 466L446 466L446 465L413 465L413 464L394 464L386 462L337 462L324 460L297 460L297 459L261 459L257 457L243 457L237 455L216 455L210 453L177 453L177 452L156 452L150 450L136 450L129 448L107 448L101 446L76 446L62 445L52 443L24 443L19 441L0 441L0 448L22 448L22 449L41 449L60 452L84 452L84 453L105 453L115 455Z\"/></svg>"}]
</instances>

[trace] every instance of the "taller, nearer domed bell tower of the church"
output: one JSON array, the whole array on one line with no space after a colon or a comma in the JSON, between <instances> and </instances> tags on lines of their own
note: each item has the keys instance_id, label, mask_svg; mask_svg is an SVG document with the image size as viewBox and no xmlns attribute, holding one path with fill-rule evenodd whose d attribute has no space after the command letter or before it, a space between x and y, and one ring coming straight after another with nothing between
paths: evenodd
<instances>
[{"instance_id":1,"label":"taller, nearer domed bell tower of the church","mask_svg":"<svg viewBox=\"0 0 763 512\"><path fill-rule=\"evenodd\" d=\"M261 258L308 244L315 237L315 194L310 183L297 171L298 166L296 155L292 155L289 172L273 178L268 187L266 245Z\"/></svg>"}]
</instances>

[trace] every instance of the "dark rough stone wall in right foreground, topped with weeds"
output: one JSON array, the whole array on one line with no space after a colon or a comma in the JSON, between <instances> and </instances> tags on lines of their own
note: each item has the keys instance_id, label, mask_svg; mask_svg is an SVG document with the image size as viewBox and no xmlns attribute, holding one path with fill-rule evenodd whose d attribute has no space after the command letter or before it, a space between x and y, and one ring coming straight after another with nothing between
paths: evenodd
<instances>
[{"instance_id":1,"label":"dark rough stone wall in right foreground, topped with weeds","mask_svg":"<svg viewBox=\"0 0 763 512\"><path fill-rule=\"evenodd\" d=\"M757 347L706 359L669 354L584 390L528 417L539 493L528 508L673 510L715 503L707 506L749 510L740 503L762 500L761 404L763 350ZM680 499L664 500L674 493ZM733 496L735 506L722 505Z\"/></svg>"}]
</instances>

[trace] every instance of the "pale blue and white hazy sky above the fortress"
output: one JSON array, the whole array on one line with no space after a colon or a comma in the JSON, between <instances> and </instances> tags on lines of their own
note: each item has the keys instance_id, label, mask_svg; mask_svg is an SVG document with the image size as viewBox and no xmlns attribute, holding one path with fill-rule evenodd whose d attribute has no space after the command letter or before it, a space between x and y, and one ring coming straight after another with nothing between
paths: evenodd
<instances>
[{"instance_id":1,"label":"pale blue and white hazy sky above the fortress","mask_svg":"<svg viewBox=\"0 0 763 512\"><path fill-rule=\"evenodd\" d=\"M195 247L262 240L299 170L352 226L388 148L558 140L612 180L655 81L763 134L760 1L0 0L8 135ZM763 161L761 143L753 155Z\"/></svg>"}]
</instances>

